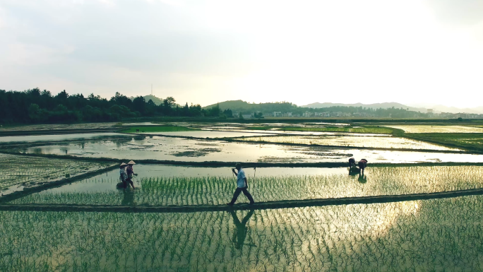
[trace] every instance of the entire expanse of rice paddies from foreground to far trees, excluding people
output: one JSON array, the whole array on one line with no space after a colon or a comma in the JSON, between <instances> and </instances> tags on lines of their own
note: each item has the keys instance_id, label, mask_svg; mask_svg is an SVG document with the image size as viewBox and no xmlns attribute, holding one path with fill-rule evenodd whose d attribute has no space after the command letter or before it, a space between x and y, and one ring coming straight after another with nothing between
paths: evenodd
<instances>
[{"instance_id":1,"label":"entire expanse of rice paddies from foreground to far trees, excluding people","mask_svg":"<svg viewBox=\"0 0 483 272\"><path fill-rule=\"evenodd\" d=\"M0 136L0 271L483 271L477 127L105 126L118 131ZM136 189L113 167L129 160ZM225 205L235 162L254 205Z\"/></svg>"}]
</instances>

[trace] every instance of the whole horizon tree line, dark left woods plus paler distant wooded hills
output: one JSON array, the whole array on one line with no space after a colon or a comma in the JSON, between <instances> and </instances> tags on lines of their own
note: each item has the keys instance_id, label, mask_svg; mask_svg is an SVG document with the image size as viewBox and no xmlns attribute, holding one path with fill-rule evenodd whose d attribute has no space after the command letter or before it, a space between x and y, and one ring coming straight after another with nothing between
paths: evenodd
<instances>
[{"instance_id":1,"label":"whole horizon tree line, dark left woods plus paler distant wooded hills","mask_svg":"<svg viewBox=\"0 0 483 272\"><path fill-rule=\"evenodd\" d=\"M297 107L290 102L271 102L249 104L246 102L232 105L235 109L221 110L219 105L207 109L200 105L181 106L174 97L166 97L160 105L153 100L145 101L142 96L129 98L116 93L109 100L91 93L88 97L82 94L69 95L66 90L52 95L49 90L33 88L18 91L0 90L0 122L2 124L18 123L69 123L69 122L112 122L132 117L232 117L235 110L239 113L255 112L257 117L269 112L366 112L375 117L413 118L427 117L427 114L412 112L406 109L371 109L363 107ZM245 105L243 105L245 104Z\"/></svg>"}]
</instances>

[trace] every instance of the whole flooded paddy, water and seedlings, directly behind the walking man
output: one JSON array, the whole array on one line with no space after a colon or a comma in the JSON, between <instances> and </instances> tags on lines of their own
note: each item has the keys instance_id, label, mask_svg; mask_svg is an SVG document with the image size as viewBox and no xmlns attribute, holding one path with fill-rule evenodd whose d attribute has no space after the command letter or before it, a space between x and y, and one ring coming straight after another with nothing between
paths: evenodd
<instances>
[{"instance_id":1,"label":"whole flooded paddy, water and seedlings, directly behind the walking man","mask_svg":"<svg viewBox=\"0 0 483 272\"><path fill-rule=\"evenodd\" d=\"M145 168L148 165L144 166ZM161 169L161 167L159 167ZM63 187L41 191L11 201L13 204L78 204L78 205L223 205L236 188L229 168L200 169L181 167L160 170L155 175L143 173L135 177L136 190L117 190L119 177L102 175ZM434 167L370 167L364 175L347 168L293 169L246 168L250 191L256 201L347 198L355 196L390 196L427 194L483 187L481 166ZM172 171L169 173L169 171ZM184 175L172 175L182 172ZM218 173L222 174L219 175ZM305 172L304 174L301 174ZM286 173L286 174L285 174ZM170 175L171 174L171 175ZM256 177L255 177L256 176ZM246 203L244 197L240 203Z\"/></svg>"}]
</instances>

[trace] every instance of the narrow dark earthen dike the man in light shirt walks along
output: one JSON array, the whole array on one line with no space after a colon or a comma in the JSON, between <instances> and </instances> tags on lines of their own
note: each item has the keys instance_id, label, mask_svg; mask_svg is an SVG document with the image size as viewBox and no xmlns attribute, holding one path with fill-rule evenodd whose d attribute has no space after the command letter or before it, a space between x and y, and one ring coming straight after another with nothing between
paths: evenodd
<instances>
[{"instance_id":1,"label":"narrow dark earthen dike the man in light shirt walks along","mask_svg":"<svg viewBox=\"0 0 483 272\"><path fill-rule=\"evenodd\" d=\"M0 211L59 211L59 212L114 212L114 213L196 213L213 211L267 210L278 208L304 208L312 206L339 206L350 204L389 203L428 199L448 199L460 196L482 195L483 188L460 191L443 191L427 194L403 194L395 196L358 196L338 199L306 199L290 201L267 201L253 205L248 203L234 206L191 205L191 206L107 206L75 204L0 204Z\"/></svg>"}]
</instances>

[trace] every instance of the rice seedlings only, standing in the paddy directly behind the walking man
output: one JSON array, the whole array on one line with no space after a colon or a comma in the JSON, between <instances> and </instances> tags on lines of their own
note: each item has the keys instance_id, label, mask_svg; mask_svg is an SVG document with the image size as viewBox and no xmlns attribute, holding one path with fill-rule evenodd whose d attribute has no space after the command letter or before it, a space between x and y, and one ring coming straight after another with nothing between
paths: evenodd
<instances>
[{"instance_id":1,"label":"rice seedlings only, standing in the paddy directly behind the walking man","mask_svg":"<svg viewBox=\"0 0 483 272\"><path fill-rule=\"evenodd\" d=\"M43 191L11 203L220 205L231 199L235 186L234 177L151 177L141 179L141 188L133 192ZM249 186L255 201L432 193L482 188L483 167L370 167L365 177L341 174L264 176L256 181L249 180ZM246 199L241 195L239 201Z\"/></svg>"}]
</instances>

